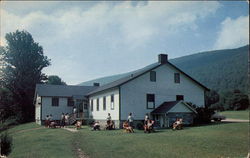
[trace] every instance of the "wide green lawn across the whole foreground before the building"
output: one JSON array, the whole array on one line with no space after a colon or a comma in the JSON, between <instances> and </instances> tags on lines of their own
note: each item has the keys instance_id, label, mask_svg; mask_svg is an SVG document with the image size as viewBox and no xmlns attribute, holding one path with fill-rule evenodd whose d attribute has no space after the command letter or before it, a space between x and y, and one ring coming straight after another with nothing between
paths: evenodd
<instances>
[{"instance_id":1,"label":"wide green lawn across the whole foreground before the building","mask_svg":"<svg viewBox=\"0 0 250 158\"><path fill-rule=\"evenodd\" d=\"M138 130L90 131L86 126L71 133L39 127L31 123L9 130L14 141L10 158L76 158L76 148L91 158L240 158L246 157L249 141L248 123L213 124L181 131L167 129L151 134ZM23 129L28 130L20 131Z\"/></svg>"}]
</instances>

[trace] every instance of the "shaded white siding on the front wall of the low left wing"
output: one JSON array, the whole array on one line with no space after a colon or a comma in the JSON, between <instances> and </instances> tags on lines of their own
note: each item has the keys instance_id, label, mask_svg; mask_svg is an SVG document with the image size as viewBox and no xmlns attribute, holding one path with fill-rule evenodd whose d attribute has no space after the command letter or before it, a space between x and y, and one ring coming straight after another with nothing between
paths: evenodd
<instances>
[{"instance_id":1,"label":"shaded white siding on the front wall of the low left wing","mask_svg":"<svg viewBox=\"0 0 250 158\"><path fill-rule=\"evenodd\" d=\"M60 120L62 113L71 114L73 107L67 104L68 98L59 98L59 106L52 106L52 97L42 97L42 119L52 114L54 120Z\"/></svg>"}]
</instances>

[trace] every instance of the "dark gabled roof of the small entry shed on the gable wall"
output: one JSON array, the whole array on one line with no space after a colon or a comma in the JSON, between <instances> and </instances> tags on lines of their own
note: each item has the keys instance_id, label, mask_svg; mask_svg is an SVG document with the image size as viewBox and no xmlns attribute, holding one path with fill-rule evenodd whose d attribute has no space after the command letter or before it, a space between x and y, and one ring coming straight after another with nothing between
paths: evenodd
<instances>
[{"instance_id":1,"label":"dark gabled roof of the small entry shed on the gable wall","mask_svg":"<svg viewBox=\"0 0 250 158\"><path fill-rule=\"evenodd\" d=\"M186 104L184 101L169 101L169 102L164 102L162 103L159 107L154 109L151 114L166 114L172 109L175 105L182 103L185 105L187 108L189 108L191 111L194 113L197 113L196 110L192 107L190 107L188 104Z\"/></svg>"}]
</instances>

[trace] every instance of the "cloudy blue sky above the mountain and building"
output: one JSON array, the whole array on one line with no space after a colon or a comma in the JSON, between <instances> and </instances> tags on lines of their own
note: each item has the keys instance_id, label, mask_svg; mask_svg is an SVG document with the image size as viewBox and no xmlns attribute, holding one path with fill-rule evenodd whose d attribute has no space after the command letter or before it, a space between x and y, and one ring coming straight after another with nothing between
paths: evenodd
<instances>
[{"instance_id":1,"label":"cloudy blue sky above the mountain and building","mask_svg":"<svg viewBox=\"0 0 250 158\"><path fill-rule=\"evenodd\" d=\"M246 1L1 1L5 34L26 30L67 84L125 73L157 61L249 44Z\"/></svg>"}]
</instances>

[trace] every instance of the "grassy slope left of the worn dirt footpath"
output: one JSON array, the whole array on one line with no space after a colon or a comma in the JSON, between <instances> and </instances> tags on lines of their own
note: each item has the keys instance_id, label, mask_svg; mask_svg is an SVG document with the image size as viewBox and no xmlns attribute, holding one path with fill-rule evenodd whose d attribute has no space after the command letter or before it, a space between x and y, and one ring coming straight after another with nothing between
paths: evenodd
<instances>
[{"instance_id":1,"label":"grassy slope left of the worn dirt footpath","mask_svg":"<svg viewBox=\"0 0 250 158\"><path fill-rule=\"evenodd\" d=\"M70 158L75 155L72 133L61 129L39 127L41 126L31 123L9 130L14 145L10 158ZM31 130L31 128L39 129ZM24 129L27 131L23 131Z\"/></svg>"}]
</instances>

